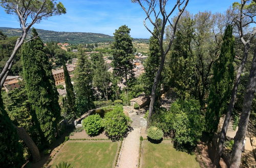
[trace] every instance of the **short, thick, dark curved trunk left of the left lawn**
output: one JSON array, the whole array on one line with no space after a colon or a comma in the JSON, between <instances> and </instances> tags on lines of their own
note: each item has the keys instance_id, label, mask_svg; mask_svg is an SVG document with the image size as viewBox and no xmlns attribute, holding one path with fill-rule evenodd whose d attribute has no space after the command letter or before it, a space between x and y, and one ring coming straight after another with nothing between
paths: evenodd
<instances>
[{"instance_id":1,"label":"short, thick, dark curved trunk left of the left lawn","mask_svg":"<svg viewBox=\"0 0 256 168\"><path fill-rule=\"evenodd\" d=\"M29 136L29 134L26 132L26 130L22 127L17 127L13 125L18 133L18 136L24 141L26 146L28 147L29 151L31 152L33 156L33 162L37 162L41 159L39 150L35 143L33 142L32 138Z\"/></svg>"}]
</instances>

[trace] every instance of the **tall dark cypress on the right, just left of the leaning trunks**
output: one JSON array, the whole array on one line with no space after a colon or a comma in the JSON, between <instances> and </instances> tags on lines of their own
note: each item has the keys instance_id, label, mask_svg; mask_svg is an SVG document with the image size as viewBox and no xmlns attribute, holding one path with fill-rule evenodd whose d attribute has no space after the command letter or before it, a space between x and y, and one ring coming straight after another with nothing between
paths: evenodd
<instances>
[{"instance_id":1,"label":"tall dark cypress on the right, just left of the leaning trunks","mask_svg":"<svg viewBox=\"0 0 256 168\"><path fill-rule=\"evenodd\" d=\"M208 106L205 115L206 131L210 136L218 129L220 116L225 113L230 99L234 69L234 37L232 26L228 25L223 37L220 57L214 65L214 76L211 80Z\"/></svg>"}]
</instances>

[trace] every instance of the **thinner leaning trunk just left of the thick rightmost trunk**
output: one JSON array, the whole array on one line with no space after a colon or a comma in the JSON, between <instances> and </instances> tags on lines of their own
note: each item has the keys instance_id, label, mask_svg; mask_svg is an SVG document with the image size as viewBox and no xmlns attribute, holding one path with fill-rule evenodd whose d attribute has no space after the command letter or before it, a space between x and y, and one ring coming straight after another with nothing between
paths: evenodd
<instances>
[{"instance_id":1,"label":"thinner leaning trunk just left of the thick rightmost trunk","mask_svg":"<svg viewBox=\"0 0 256 168\"><path fill-rule=\"evenodd\" d=\"M228 105L228 108L227 108L227 113L226 113L226 117L225 117L222 129L221 129L218 146L216 148L214 164L218 167L220 167L220 159L221 159L221 154L222 154L222 150L223 150L223 144L225 142L228 125L229 125L229 122L231 120L231 115L232 115L234 103L235 103L236 98L237 98L237 92L238 92L238 86L239 86L239 83L240 83L241 74L243 72L244 65L247 62L249 47L250 47L250 43L248 42L244 46L243 60L241 62L240 67L238 68L236 79L234 80L234 86L233 86L233 90L232 90L231 99L230 99L230 102L229 102L229 105Z\"/></svg>"}]
</instances>

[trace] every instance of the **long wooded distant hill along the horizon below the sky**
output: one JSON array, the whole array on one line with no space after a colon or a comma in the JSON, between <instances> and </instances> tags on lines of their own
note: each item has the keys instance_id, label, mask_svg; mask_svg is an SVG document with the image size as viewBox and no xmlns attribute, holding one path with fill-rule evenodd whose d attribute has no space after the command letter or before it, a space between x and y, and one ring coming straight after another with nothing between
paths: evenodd
<instances>
[{"instance_id":1,"label":"long wooded distant hill along the horizon below the sky","mask_svg":"<svg viewBox=\"0 0 256 168\"><path fill-rule=\"evenodd\" d=\"M14 29L10 27L0 27L7 36L20 36L22 34L21 29ZM111 42L113 36L104 35L100 33L82 33L82 32L55 32L42 29L36 29L38 35L44 42L56 41L61 43L81 44L81 43L100 43ZM28 33L28 37L31 37L31 30ZM134 39L134 41L147 42L148 39Z\"/></svg>"}]
</instances>

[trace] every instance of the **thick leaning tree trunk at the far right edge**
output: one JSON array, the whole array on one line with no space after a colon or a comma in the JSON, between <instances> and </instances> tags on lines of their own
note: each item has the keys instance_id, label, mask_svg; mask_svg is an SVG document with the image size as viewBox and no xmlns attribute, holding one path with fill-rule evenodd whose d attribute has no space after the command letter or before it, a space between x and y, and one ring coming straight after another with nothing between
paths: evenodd
<instances>
[{"instance_id":1,"label":"thick leaning tree trunk at the far right edge","mask_svg":"<svg viewBox=\"0 0 256 168\"><path fill-rule=\"evenodd\" d=\"M254 93L256 90L256 48L254 49L254 55L253 55L253 60L251 64L249 80L247 82L246 88L247 89L244 95L243 108L242 108L242 114L241 114L239 125L238 125L238 131L236 133L236 136L234 137L234 144L232 147L232 156L231 156L231 162L230 162L230 167L232 168L239 168L240 166L241 154L243 149L243 141L245 138L245 134L246 134L246 130L249 122L252 99L254 97Z\"/></svg>"}]
</instances>

